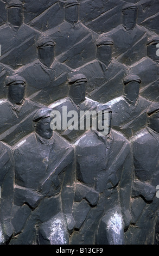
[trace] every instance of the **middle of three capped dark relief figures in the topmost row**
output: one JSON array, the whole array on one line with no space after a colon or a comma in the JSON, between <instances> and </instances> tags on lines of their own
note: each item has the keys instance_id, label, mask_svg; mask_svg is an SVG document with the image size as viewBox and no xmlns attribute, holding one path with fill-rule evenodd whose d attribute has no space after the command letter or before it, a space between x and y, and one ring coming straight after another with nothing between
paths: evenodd
<instances>
[{"instance_id":1,"label":"middle of three capped dark relief figures in the topmost row","mask_svg":"<svg viewBox=\"0 0 159 256\"><path fill-rule=\"evenodd\" d=\"M55 40L55 57L72 69L90 60L96 53L94 44L98 34L79 21L79 2L68 0L65 5L65 20L46 34Z\"/></svg>"}]
</instances>

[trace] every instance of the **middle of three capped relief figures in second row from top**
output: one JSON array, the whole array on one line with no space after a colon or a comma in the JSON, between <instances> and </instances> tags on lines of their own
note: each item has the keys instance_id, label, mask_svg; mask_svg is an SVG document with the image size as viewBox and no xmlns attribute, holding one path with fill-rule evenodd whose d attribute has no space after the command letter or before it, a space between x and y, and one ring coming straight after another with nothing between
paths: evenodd
<instances>
[{"instance_id":1,"label":"middle of three capped relief figures in second row from top","mask_svg":"<svg viewBox=\"0 0 159 256\"><path fill-rule=\"evenodd\" d=\"M87 94L91 99L105 103L122 95L122 79L128 69L112 59L113 40L111 38L100 35L96 46L96 59L77 70L87 77Z\"/></svg>"}]
</instances>

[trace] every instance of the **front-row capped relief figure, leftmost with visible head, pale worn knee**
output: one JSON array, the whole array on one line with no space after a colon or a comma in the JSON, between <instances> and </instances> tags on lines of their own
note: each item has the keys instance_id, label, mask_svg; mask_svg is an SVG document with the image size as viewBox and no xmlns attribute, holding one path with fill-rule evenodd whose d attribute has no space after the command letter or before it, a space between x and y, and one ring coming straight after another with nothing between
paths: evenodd
<instances>
[{"instance_id":1,"label":"front-row capped relief figure, leftmost with visible head, pale worn knee","mask_svg":"<svg viewBox=\"0 0 159 256\"><path fill-rule=\"evenodd\" d=\"M13 236L11 244L21 244L21 239L24 244L68 244L68 230L74 228L71 214L74 150L50 128L51 112L50 108L39 109L33 118L35 132L13 147L17 210L12 225L14 235L21 234L17 239ZM17 229L15 220L24 204L28 212L21 224L22 229L25 225L22 231Z\"/></svg>"}]
</instances>

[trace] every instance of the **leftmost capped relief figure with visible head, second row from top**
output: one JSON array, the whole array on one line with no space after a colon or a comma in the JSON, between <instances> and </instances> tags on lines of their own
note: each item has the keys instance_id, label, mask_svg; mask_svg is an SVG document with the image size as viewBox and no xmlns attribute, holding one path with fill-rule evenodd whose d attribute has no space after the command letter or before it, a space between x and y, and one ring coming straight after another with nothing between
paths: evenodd
<instances>
[{"instance_id":1,"label":"leftmost capped relief figure with visible head, second row from top","mask_svg":"<svg viewBox=\"0 0 159 256\"><path fill-rule=\"evenodd\" d=\"M54 41L46 35L37 40L39 59L16 70L27 81L26 95L34 101L49 103L67 96L67 72L65 64L54 60Z\"/></svg>"}]
</instances>

